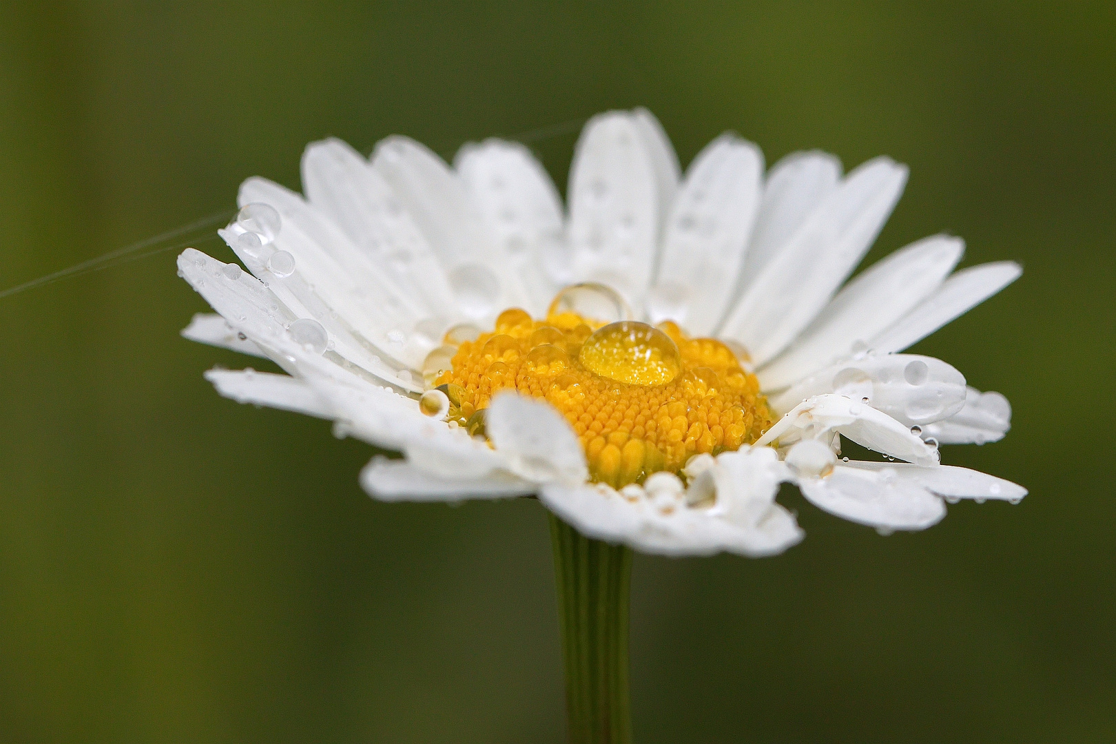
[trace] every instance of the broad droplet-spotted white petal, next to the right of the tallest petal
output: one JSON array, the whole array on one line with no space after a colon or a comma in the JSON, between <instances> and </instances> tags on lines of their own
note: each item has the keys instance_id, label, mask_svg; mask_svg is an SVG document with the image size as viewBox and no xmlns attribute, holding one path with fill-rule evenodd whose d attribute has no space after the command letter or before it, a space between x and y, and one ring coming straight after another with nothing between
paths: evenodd
<instances>
[{"instance_id":1,"label":"broad droplet-spotted white petal, next to the right of the tallest petal","mask_svg":"<svg viewBox=\"0 0 1116 744\"><path fill-rule=\"evenodd\" d=\"M648 293L652 322L674 320L695 335L713 331L737 286L762 175L762 153L732 135L714 139L690 164ZM672 296L682 301L668 301Z\"/></svg>"}]
</instances>

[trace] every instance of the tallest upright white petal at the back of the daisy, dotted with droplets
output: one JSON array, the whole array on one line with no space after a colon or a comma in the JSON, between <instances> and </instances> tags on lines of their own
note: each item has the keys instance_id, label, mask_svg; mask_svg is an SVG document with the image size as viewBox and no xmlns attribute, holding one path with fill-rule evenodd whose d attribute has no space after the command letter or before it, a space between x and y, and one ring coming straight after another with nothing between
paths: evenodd
<instances>
[{"instance_id":1,"label":"tallest upright white petal at the back of the daisy, dotted with droplets","mask_svg":"<svg viewBox=\"0 0 1116 744\"><path fill-rule=\"evenodd\" d=\"M655 163L631 114L589 119L569 175L571 276L643 307L658 238Z\"/></svg>"}]
</instances>

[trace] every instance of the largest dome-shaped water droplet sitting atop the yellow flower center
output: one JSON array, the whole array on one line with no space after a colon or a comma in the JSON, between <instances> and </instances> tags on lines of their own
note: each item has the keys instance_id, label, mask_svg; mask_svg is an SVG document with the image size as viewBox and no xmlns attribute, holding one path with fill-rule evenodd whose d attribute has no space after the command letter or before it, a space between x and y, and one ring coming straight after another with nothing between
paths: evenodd
<instances>
[{"instance_id":1,"label":"largest dome-shaped water droplet sitting atop the yellow flower center","mask_svg":"<svg viewBox=\"0 0 1116 744\"><path fill-rule=\"evenodd\" d=\"M590 371L629 385L665 385L682 369L671 337L634 320L597 329L585 340L579 358Z\"/></svg>"}]
</instances>

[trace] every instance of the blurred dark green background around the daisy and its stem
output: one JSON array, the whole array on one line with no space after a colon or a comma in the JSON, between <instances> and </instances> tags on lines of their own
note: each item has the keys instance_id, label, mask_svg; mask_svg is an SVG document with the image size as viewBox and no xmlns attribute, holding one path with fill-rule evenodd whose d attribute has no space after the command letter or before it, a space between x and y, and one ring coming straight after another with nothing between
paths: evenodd
<instances>
[{"instance_id":1,"label":"blurred dark green background around the daisy and its stem","mask_svg":"<svg viewBox=\"0 0 1116 744\"><path fill-rule=\"evenodd\" d=\"M1116 741L1114 32L1112 2L4 2L0 289L298 187L328 135L518 135L564 184L581 120L646 105L683 163L724 129L892 155L869 261L949 231L1026 267L917 350L1014 406L946 460L1031 494L883 538L786 493L782 557L638 557L637 741ZM176 252L0 300L0 741L564 741L539 504L375 503L369 447L220 398L244 360L179 337Z\"/></svg>"}]
</instances>

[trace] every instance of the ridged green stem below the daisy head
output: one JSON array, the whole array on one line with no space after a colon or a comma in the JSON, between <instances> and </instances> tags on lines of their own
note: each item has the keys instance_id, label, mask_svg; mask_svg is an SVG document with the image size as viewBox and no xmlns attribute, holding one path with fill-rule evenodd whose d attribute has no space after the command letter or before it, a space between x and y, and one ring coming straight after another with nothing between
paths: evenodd
<instances>
[{"instance_id":1,"label":"ridged green stem below the daisy head","mask_svg":"<svg viewBox=\"0 0 1116 744\"><path fill-rule=\"evenodd\" d=\"M631 744L632 551L590 540L554 514L550 538L566 661L570 744Z\"/></svg>"}]
</instances>

